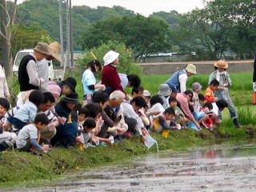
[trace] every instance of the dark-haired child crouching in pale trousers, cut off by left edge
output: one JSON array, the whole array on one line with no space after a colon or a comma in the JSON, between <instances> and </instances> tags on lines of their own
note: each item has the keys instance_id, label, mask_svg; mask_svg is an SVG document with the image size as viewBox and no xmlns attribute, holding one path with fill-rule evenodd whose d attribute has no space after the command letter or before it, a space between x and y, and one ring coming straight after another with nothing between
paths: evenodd
<instances>
[{"instance_id":1,"label":"dark-haired child crouching in pale trousers, cut off by left edge","mask_svg":"<svg viewBox=\"0 0 256 192\"><path fill-rule=\"evenodd\" d=\"M9 110L10 103L6 98L0 98L0 152L7 150L16 142L17 135L6 131L6 111Z\"/></svg>"}]
</instances>

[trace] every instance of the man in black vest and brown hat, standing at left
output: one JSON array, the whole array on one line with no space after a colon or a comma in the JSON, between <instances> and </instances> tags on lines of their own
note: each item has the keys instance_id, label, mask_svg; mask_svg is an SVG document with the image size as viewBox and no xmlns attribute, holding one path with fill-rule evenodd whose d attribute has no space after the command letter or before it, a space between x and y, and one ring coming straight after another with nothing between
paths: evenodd
<instances>
[{"instance_id":1,"label":"man in black vest and brown hat, standing at left","mask_svg":"<svg viewBox=\"0 0 256 192\"><path fill-rule=\"evenodd\" d=\"M28 101L32 90L41 89L44 85L44 79L38 78L36 62L42 61L47 55L49 55L48 45L44 42L38 42L34 51L22 58L18 66L18 82L21 92L18 94L17 106L22 106Z\"/></svg>"}]
</instances>

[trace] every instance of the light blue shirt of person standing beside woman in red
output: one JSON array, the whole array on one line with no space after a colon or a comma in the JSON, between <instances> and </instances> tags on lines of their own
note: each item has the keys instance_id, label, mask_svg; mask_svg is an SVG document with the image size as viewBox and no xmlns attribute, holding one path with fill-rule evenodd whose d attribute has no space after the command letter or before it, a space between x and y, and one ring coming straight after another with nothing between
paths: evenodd
<instances>
[{"instance_id":1,"label":"light blue shirt of person standing beside woman in red","mask_svg":"<svg viewBox=\"0 0 256 192\"><path fill-rule=\"evenodd\" d=\"M82 74L82 86L84 94L94 94L95 90L90 90L88 86L96 84L96 78L91 70L85 70Z\"/></svg>"}]
</instances>

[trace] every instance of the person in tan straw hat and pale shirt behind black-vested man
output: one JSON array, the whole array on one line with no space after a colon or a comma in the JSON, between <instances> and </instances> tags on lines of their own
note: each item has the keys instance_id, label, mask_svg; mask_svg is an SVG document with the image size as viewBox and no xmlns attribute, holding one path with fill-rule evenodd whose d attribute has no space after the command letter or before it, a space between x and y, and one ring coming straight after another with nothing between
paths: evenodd
<instances>
[{"instance_id":1,"label":"person in tan straw hat and pale shirt behind black-vested man","mask_svg":"<svg viewBox=\"0 0 256 192\"><path fill-rule=\"evenodd\" d=\"M49 80L49 66L50 61L56 59L58 62L61 62L60 52L61 46L58 42L52 42L48 45L48 54L46 58L42 59L42 61L37 62L38 66L38 78L44 79L45 82ZM53 80L53 79L52 79Z\"/></svg>"}]
</instances>

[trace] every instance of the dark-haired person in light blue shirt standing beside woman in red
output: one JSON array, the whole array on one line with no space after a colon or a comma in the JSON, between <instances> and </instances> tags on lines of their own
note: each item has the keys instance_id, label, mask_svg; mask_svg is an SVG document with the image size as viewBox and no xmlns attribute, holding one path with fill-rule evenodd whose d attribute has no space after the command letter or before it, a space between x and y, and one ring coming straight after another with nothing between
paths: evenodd
<instances>
[{"instance_id":1,"label":"dark-haired person in light blue shirt standing beside woman in red","mask_svg":"<svg viewBox=\"0 0 256 192\"><path fill-rule=\"evenodd\" d=\"M83 105L86 106L92 100L95 90L105 90L105 85L96 85L94 74L102 70L102 65L98 60L88 62L86 70L82 74L82 86L84 90Z\"/></svg>"}]
</instances>

